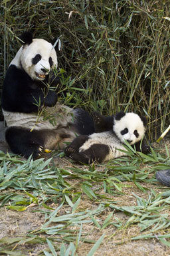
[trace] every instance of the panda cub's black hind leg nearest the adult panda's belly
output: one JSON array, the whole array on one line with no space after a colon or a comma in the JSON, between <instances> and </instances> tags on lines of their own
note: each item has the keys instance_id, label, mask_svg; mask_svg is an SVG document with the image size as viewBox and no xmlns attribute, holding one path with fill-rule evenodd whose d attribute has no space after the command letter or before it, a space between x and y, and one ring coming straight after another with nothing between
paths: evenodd
<instances>
[{"instance_id":1,"label":"panda cub's black hind leg nearest the adult panda's belly","mask_svg":"<svg viewBox=\"0 0 170 256\"><path fill-rule=\"evenodd\" d=\"M70 157L70 155L78 152L80 146L82 146L84 144L84 142L86 142L86 140L88 140L88 135L80 135L78 137L76 137L71 143L70 145L68 145L64 152L66 154L66 156Z\"/></svg>"}]
</instances>

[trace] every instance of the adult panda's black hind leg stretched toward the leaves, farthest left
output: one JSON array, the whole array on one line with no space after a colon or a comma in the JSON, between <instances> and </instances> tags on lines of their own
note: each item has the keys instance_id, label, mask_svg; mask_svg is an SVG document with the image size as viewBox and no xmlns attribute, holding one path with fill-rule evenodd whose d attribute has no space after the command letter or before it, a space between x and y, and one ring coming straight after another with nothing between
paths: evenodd
<instances>
[{"instance_id":1,"label":"adult panda's black hind leg stretched toward the leaves, farthest left","mask_svg":"<svg viewBox=\"0 0 170 256\"><path fill-rule=\"evenodd\" d=\"M14 154L19 154L33 159L39 158L44 147L44 139L39 130L32 132L27 128L11 126L5 132L5 139Z\"/></svg>"}]
</instances>

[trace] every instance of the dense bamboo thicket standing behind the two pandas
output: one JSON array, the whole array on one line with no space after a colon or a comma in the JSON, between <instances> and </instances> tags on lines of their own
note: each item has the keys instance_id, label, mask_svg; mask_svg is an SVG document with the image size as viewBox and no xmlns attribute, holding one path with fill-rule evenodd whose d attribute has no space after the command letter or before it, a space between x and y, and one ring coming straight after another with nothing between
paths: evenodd
<instances>
[{"instance_id":1,"label":"dense bamboo thicket standing behind the two pandas","mask_svg":"<svg viewBox=\"0 0 170 256\"><path fill-rule=\"evenodd\" d=\"M0 17L0 86L23 31L60 37L66 104L145 114L151 140L169 125L169 0L3 0Z\"/></svg>"}]
</instances>

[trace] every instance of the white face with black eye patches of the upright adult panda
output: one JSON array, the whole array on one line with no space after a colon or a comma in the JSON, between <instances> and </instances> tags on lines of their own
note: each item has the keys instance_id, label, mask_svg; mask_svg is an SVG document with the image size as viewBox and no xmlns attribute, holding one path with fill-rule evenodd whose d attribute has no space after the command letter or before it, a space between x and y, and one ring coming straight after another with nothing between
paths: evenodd
<instances>
[{"instance_id":1,"label":"white face with black eye patches of the upright adult panda","mask_svg":"<svg viewBox=\"0 0 170 256\"><path fill-rule=\"evenodd\" d=\"M33 39L21 50L21 64L33 80L44 80L50 69L57 67L56 51L44 39Z\"/></svg>"}]
</instances>

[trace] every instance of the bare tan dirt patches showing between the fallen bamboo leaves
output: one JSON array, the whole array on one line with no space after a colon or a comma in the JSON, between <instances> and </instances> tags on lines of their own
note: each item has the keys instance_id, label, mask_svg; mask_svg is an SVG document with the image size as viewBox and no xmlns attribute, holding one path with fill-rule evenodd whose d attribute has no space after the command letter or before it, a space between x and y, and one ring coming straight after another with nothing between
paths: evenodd
<instances>
[{"instance_id":1,"label":"bare tan dirt patches showing between the fallen bamboo leaves","mask_svg":"<svg viewBox=\"0 0 170 256\"><path fill-rule=\"evenodd\" d=\"M4 138L4 127L3 122L0 123L0 150L6 151L7 144L5 143ZM54 162L57 166L66 167L71 165L66 159L55 158ZM128 182L126 182L128 185ZM161 186L157 183L155 185L147 185L148 188L153 188L156 192L161 192ZM131 196L131 191L139 196L147 196L145 193L141 193L135 186L131 188L124 188L126 190L126 195L123 195L121 198L114 197L114 200L119 200L120 205L134 205L134 198ZM101 192L102 193L102 192ZM56 205L57 207L57 205ZM83 204L80 205L82 208L94 209L98 205L94 205L92 201L84 197ZM41 212L34 212L36 206L28 207L26 211L12 211L5 207L0 208L0 239L4 237L24 237L30 230L39 229L42 223L44 222L44 215ZM62 211L60 215L64 214ZM100 219L106 219L110 214L110 211L105 211L100 215ZM170 214L170 209L169 209ZM113 221L115 218L122 219L126 221L127 215L121 212L116 212L113 215ZM75 227L74 227L75 228ZM131 225L127 229L117 229L116 227L109 225L104 230L98 229L98 227L92 227L91 223L85 223L83 225L83 231L89 233L86 237L88 239L97 240L105 233L104 243L100 245L95 256L169 256L170 249L165 245L161 244L157 237L149 240L137 240L131 241L130 237L133 235L140 235L139 227L137 225ZM163 231L162 233L163 234ZM78 245L78 256L86 256L92 244L80 242ZM35 245L18 245L19 248L22 248L25 251L24 255L36 256L39 255L39 252L46 248L44 244L35 244ZM15 254L14 254L15 255Z\"/></svg>"}]
</instances>

